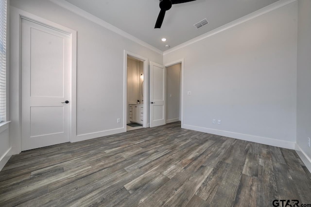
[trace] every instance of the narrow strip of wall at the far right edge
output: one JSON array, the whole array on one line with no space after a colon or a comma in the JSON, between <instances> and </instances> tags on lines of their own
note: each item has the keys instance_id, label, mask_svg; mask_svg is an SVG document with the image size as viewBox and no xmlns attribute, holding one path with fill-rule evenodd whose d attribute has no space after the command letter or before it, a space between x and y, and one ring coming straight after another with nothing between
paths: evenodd
<instances>
[{"instance_id":1,"label":"narrow strip of wall at the far right edge","mask_svg":"<svg viewBox=\"0 0 311 207\"><path fill-rule=\"evenodd\" d=\"M297 144L311 171L311 0L298 0Z\"/></svg>"}]
</instances>

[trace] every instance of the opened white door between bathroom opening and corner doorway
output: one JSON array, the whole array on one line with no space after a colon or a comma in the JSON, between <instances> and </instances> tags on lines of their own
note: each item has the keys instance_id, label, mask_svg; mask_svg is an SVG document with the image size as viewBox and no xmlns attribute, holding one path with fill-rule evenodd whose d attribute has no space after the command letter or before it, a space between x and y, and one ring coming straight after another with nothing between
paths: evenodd
<instances>
[{"instance_id":1,"label":"opened white door between bathroom opening and corner doorway","mask_svg":"<svg viewBox=\"0 0 311 207\"><path fill-rule=\"evenodd\" d=\"M166 124L166 68L150 63L150 127Z\"/></svg>"}]
</instances>

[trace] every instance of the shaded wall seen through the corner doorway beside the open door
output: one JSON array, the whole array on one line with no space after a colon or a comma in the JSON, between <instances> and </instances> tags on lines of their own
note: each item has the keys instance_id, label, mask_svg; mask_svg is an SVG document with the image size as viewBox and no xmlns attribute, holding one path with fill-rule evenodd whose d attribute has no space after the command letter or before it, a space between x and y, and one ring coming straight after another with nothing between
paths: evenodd
<instances>
[{"instance_id":1,"label":"shaded wall seen through the corner doorway beside the open door","mask_svg":"<svg viewBox=\"0 0 311 207\"><path fill-rule=\"evenodd\" d=\"M181 64L166 68L166 123L179 121Z\"/></svg>"}]
</instances>

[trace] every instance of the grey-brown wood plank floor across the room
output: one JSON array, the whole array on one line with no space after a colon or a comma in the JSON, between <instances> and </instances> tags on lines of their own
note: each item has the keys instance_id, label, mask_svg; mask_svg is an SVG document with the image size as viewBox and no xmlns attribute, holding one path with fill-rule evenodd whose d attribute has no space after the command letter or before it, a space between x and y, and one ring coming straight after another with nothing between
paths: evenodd
<instances>
[{"instance_id":1,"label":"grey-brown wood plank floor across the room","mask_svg":"<svg viewBox=\"0 0 311 207\"><path fill-rule=\"evenodd\" d=\"M0 206L270 207L311 204L294 150L180 123L30 150L0 172Z\"/></svg>"}]
</instances>

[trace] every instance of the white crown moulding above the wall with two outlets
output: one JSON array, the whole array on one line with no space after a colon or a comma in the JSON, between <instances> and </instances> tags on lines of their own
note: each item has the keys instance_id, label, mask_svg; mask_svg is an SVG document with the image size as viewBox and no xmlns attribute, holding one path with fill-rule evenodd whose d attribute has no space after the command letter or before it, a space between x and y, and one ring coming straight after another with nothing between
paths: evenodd
<instances>
[{"instance_id":1,"label":"white crown moulding above the wall with two outlets","mask_svg":"<svg viewBox=\"0 0 311 207\"><path fill-rule=\"evenodd\" d=\"M171 49L168 49L168 50L163 52L163 55L167 55L167 54L169 54L169 53L171 53L173 51L176 51L178 49L181 49L181 48L184 48L186 46L189 46L189 45L191 45L193 43L201 41L201 40L203 40L203 39L205 39L207 37L210 37L210 36L212 36L214 34L217 34L219 32L223 32L225 30L228 30L228 29L230 29L232 27L235 27L235 26L237 26L239 24L242 24L242 23L244 23L246 21L249 21L249 20L254 19L254 18L256 18L258 16L261 16L261 15L264 15L264 14L266 14L268 12L273 11L273 10L276 10L276 9L282 7L282 6L285 6L287 4L293 3L294 1L296 1L296 0L279 0L279 1L276 1L275 3L270 4L270 5L266 6L266 7L263 7L262 9L259 9L259 10L255 11L255 12L249 14L249 15L246 15L246 16L243 16L241 18L238 18L238 19L236 19L236 20L234 20L232 22L229 22L229 23L227 23L227 24L225 24L225 25L223 25L221 27L218 27L218 28L216 28L216 29L214 29L212 31L204 33L204 34L202 34L200 36L197 36L197 37L195 37L195 38L193 38L193 39L191 39L191 40L189 40L187 42L184 42L184 43L182 43L180 45L177 45L177 46L175 46L175 47L173 47Z\"/></svg>"}]
</instances>

